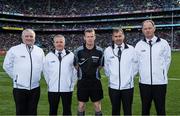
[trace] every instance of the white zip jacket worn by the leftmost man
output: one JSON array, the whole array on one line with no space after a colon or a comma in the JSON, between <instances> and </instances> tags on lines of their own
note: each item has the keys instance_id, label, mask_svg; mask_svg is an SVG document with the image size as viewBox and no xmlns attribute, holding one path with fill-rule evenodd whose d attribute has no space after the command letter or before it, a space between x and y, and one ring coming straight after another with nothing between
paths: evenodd
<instances>
[{"instance_id":1,"label":"white zip jacket worn by the leftmost man","mask_svg":"<svg viewBox=\"0 0 180 116\"><path fill-rule=\"evenodd\" d=\"M13 79L13 87L31 90L39 87L44 52L33 45L30 52L25 44L19 44L7 52L3 69Z\"/></svg>"}]
</instances>

